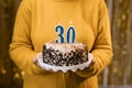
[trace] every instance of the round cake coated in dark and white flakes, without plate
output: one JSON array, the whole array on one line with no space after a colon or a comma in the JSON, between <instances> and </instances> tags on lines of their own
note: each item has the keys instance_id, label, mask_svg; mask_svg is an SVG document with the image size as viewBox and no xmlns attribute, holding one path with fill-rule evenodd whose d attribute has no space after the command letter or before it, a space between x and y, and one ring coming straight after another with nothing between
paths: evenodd
<instances>
[{"instance_id":1,"label":"round cake coated in dark and white flakes, without plate","mask_svg":"<svg viewBox=\"0 0 132 88\"><path fill-rule=\"evenodd\" d=\"M82 43L46 43L43 63L54 66L75 66L88 62L88 50Z\"/></svg>"}]
</instances>

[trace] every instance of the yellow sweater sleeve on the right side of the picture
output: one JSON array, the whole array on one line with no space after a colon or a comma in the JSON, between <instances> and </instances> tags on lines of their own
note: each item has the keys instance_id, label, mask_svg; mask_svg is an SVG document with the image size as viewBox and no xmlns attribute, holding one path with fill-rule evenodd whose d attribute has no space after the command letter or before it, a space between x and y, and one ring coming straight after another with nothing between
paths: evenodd
<instances>
[{"instance_id":1,"label":"yellow sweater sleeve on the right side of the picture","mask_svg":"<svg viewBox=\"0 0 132 88\"><path fill-rule=\"evenodd\" d=\"M80 77L88 78L98 75L105 69L106 66L110 64L112 58L109 16L103 0L101 0L99 4L98 33L91 53L94 55L94 59L96 59L96 63L85 70L77 70L76 74Z\"/></svg>"}]
</instances>

